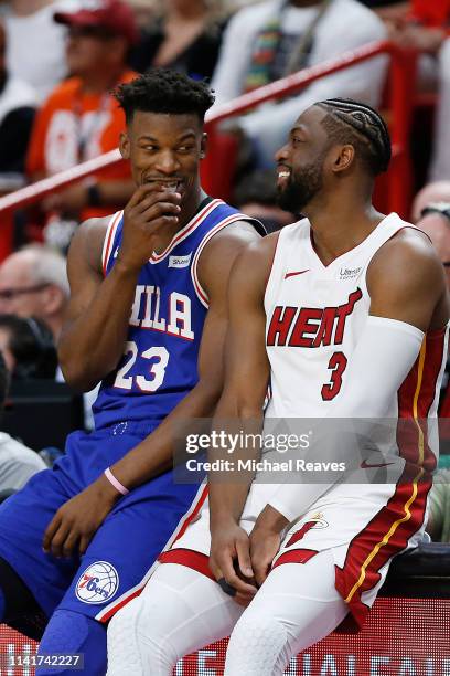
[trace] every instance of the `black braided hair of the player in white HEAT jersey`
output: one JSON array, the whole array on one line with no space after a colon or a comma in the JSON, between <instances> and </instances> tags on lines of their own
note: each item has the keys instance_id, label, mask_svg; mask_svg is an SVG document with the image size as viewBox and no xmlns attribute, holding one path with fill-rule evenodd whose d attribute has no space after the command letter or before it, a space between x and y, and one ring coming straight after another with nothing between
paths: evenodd
<instances>
[{"instance_id":1,"label":"black braided hair of the player in white HEAT jersey","mask_svg":"<svg viewBox=\"0 0 450 676\"><path fill-rule=\"evenodd\" d=\"M329 98L315 105L326 113L321 124L331 142L351 144L374 177L387 170L390 137L377 110L351 98Z\"/></svg>"}]
</instances>

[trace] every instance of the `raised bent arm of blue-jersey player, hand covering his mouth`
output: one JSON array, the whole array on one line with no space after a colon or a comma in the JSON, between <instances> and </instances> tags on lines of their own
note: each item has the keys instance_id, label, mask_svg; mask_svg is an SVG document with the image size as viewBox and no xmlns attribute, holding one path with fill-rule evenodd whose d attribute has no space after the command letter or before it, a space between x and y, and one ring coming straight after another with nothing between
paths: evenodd
<instances>
[{"instance_id":1,"label":"raised bent arm of blue-jersey player, hand covering his mouth","mask_svg":"<svg viewBox=\"0 0 450 676\"><path fill-rule=\"evenodd\" d=\"M87 221L75 234L67 265L71 302L58 346L61 368L74 388L88 391L116 368L139 272L158 237L168 244L176 231L179 199L151 187L135 192L124 211L120 252L106 278L101 273L105 220Z\"/></svg>"}]
</instances>

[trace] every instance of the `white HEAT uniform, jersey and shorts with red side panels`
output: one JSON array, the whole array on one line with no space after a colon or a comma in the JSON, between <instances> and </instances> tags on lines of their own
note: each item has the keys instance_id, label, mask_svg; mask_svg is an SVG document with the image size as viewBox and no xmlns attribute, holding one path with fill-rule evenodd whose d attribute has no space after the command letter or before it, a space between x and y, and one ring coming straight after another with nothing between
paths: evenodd
<instances>
[{"instance_id":1,"label":"white HEAT uniform, jersey and shorts with red side panels","mask_svg":"<svg viewBox=\"0 0 450 676\"><path fill-rule=\"evenodd\" d=\"M396 214L388 215L364 242L328 266L313 250L308 220L281 230L265 296L272 389L265 432L270 419L276 419L276 424L277 419L285 419L289 425L288 419L326 416L331 402L340 395L346 367L368 318L367 267L378 249L406 226L409 224ZM309 561L313 566L315 554L330 549L335 587L360 625L393 557L417 546L424 537L436 457L429 426L427 440L419 419L436 416L446 346L444 328L427 332L415 365L393 398L389 418L395 423L397 419L411 419L411 434L397 435L397 424L392 427L398 451L388 445L393 452L386 463L392 469L389 479L363 483L352 474L356 483L336 482L330 489L324 487L324 493L282 534L272 562L272 567ZM265 448L265 457L269 455ZM377 467L384 472L384 465L377 464L366 465L361 472L371 466L369 473L376 473ZM240 519L247 532L281 486L275 483L280 479L270 474L258 471L250 486ZM299 475L299 490L301 483ZM202 508L160 560L190 566L212 577L206 490Z\"/></svg>"}]
</instances>

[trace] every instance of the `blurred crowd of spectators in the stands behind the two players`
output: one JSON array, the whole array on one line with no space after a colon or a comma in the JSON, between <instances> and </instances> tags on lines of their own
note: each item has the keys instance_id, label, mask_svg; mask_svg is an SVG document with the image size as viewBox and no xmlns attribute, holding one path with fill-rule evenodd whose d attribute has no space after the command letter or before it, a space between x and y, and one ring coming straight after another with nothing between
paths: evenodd
<instances>
[{"instance_id":1,"label":"blurred crowd of spectators in the stands behind the two players","mask_svg":"<svg viewBox=\"0 0 450 676\"><path fill-rule=\"evenodd\" d=\"M449 27L450 0L0 2L0 194L116 148L125 119L110 92L136 73L169 67L208 78L218 106L349 50L390 39L419 52L417 92L433 102L429 161L422 168L430 184L418 194L411 218L448 267ZM387 76L388 60L377 56L228 120L226 133L239 147L232 203L260 218L269 231L291 222L294 215L276 204L274 152L292 123L325 98L382 106ZM0 384L63 380L55 345L69 294L64 254L82 221L124 208L132 192L128 167L117 165L14 214L18 251L0 265ZM1 385L2 401L6 392ZM442 405L450 416L446 394ZM0 435L0 465L7 441ZM6 485L2 476L0 467L0 495L19 487L15 479Z\"/></svg>"}]
</instances>

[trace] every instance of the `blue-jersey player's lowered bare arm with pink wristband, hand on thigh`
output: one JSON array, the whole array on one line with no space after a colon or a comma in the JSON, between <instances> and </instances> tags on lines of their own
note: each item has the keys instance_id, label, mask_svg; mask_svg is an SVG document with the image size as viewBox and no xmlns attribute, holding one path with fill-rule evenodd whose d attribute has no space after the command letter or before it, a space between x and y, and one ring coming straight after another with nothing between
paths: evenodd
<instances>
[{"instance_id":1,"label":"blue-jersey player's lowered bare arm with pink wristband, hand on thigh","mask_svg":"<svg viewBox=\"0 0 450 676\"><path fill-rule=\"evenodd\" d=\"M113 474L132 489L172 466L174 426L189 418L211 416L223 387L223 347L227 327L226 289L229 271L239 251L259 235L248 223L217 233L200 258L199 276L210 296L202 335L199 383L142 443L111 466ZM109 275L108 275L109 276ZM55 556L83 553L93 535L121 495L104 474L65 503L44 536L44 549Z\"/></svg>"}]
</instances>

